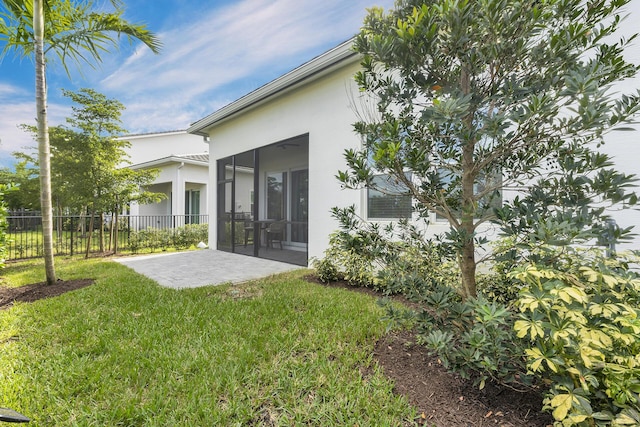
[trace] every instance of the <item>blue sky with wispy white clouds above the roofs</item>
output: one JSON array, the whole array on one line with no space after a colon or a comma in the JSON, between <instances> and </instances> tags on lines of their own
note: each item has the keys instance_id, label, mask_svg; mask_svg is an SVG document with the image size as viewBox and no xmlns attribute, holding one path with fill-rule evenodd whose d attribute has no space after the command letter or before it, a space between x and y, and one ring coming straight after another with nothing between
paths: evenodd
<instances>
[{"instance_id":1,"label":"blue sky with wispy white clouds above the roofs","mask_svg":"<svg viewBox=\"0 0 640 427\"><path fill-rule=\"evenodd\" d=\"M100 4L102 0L96 3ZM104 0L105 5L109 2ZM371 6L393 0L125 0L125 18L146 23L163 43L160 55L123 41L97 69L71 79L48 67L49 124L70 115L61 89L92 88L126 106L130 133L186 129L356 34ZM17 126L35 124L31 59L0 63L0 166L34 146Z\"/></svg>"}]
</instances>

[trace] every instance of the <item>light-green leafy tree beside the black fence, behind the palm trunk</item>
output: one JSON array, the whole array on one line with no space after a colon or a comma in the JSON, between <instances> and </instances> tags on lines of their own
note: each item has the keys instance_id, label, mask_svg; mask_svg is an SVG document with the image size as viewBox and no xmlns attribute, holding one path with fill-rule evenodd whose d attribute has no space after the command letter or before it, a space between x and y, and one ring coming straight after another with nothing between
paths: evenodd
<instances>
[{"instance_id":1,"label":"light-green leafy tree beside the black fence, behind the palm trunk","mask_svg":"<svg viewBox=\"0 0 640 427\"><path fill-rule=\"evenodd\" d=\"M104 223L105 213L116 213L132 201L158 201L162 194L144 190L156 178L158 171L119 169L128 162L129 142L118 138L126 133L120 117L124 105L93 89L77 92L63 90L73 101L67 125L50 128L52 151L53 196L59 213L62 210L89 211ZM32 133L37 127L23 125ZM93 224L89 227L87 256ZM104 250L102 228L100 248Z\"/></svg>"}]
</instances>

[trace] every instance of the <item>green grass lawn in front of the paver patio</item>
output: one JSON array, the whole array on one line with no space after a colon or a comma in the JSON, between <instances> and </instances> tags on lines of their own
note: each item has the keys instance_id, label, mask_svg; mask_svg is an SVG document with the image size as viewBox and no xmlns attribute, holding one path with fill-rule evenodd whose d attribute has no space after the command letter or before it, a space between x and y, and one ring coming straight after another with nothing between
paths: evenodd
<instances>
[{"instance_id":1,"label":"green grass lawn in front of the paver patio","mask_svg":"<svg viewBox=\"0 0 640 427\"><path fill-rule=\"evenodd\" d=\"M33 271L37 271L36 275ZM372 297L301 272L172 290L104 260L59 260L93 286L0 311L0 406L34 426L403 425L372 361ZM5 285L41 275L13 263Z\"/></svg>"}]
</instances>

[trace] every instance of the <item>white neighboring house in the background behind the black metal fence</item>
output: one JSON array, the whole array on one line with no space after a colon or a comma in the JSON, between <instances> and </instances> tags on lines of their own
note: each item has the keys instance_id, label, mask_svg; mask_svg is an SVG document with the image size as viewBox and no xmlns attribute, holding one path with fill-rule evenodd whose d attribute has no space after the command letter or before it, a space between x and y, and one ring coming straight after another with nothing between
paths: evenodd
<instances>
[{"instance_id":1,"label":"white neighboring house in the background behind the black metal fence","mask_svg":"<svg viewBox=\"0 0 640 427\"><path fill-rule=\"evenodd\" d=\"M127 135L122 139L131 144L127 149L131 164L126 167L159 169L158 177L147 190L165 195L159 203L132 204L130 214L138 217L135 228L207 222L209 155L202 137L171 131Z\"/></svg>"}]
</instances>

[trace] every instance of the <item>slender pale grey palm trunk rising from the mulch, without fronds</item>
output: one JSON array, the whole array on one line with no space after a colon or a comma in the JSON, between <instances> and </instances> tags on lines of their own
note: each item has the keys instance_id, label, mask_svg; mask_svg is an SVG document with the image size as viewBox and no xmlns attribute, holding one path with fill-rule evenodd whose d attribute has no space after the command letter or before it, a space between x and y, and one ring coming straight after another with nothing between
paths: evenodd
<instances>
[{"instance_id":1,"label":"slender pale grey palm trunk rising from the mulch, without fronds","mask_svg":"<svg viewBox=\"0 0 640 427\"><path fill-rule=\"evenodd\" d=\"M51 150L47 125L47 81L44 59L44 7L42 0L33 1L33 35L36 61L36 117L38 120L38 164L40 166L40 205L44 268L48 285L56 281L53 262L53 209L51 206Z\"/></svg>"}]
</instances>

